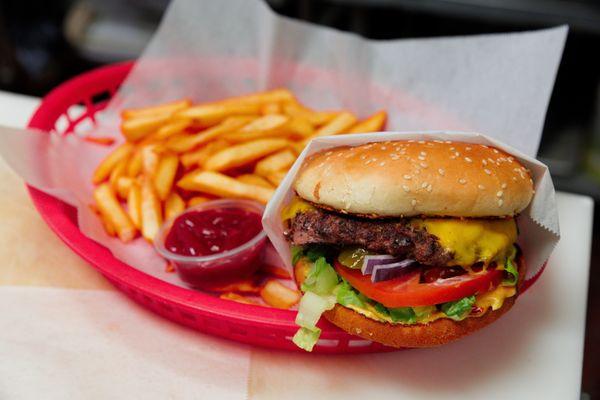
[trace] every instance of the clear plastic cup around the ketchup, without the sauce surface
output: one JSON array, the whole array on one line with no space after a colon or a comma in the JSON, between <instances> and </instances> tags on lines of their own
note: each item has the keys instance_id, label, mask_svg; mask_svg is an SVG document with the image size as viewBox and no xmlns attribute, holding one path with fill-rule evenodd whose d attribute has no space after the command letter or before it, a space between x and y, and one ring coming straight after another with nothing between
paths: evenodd
<instances>
[{"instance_id":1,"label":"clear plastic cup around the ketchup, without the sauce surface","mask_svg":"<svg viewBox=\"0 0 600 400\"><path fill-rule=\"evenodd\" d=\"M230 207L255 212L259 216L262 216L264 211L262 204L251 200L210 200L188 208L181 214L169 219L156 235L154 240L156 251L175 265L179 277L187 284L201 289L210 289L211 287L246 278L259 267L260 255L267 242L267 234L263 230L238 247L207 256L184 256L175 254L165 247L165 240L176 218L189 212Z\"/></svg>"}]
</instances>

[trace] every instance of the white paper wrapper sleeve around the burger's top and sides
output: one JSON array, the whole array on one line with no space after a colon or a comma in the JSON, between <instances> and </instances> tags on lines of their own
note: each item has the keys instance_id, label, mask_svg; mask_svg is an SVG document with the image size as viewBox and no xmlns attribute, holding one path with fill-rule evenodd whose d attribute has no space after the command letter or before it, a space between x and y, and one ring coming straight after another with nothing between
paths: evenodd
<instances>
[{"instance_id":1,"label":"white paper wrapper sleeve around the burger's top and sides","mask_svg":"<svg viewBox=\"0 0 600 400\"><path fill-rule=\"evenodd\" d=\"M411 139L451 140L494 146L513 155L530 170L535 193L531 204L517 217L517 224L519 226L518 244L523 250L527 266L526 279L535 276L542 269L560 239L554 186L548 167L538 160L486 135L456 131L379 132L327 136L311 141L302 154L300 154L283 182L279 185L279 188L267 205L263 216L263 227L290 273L293 274L290 244L283 236L281 210L294 196L293 183L304 159L311 154L332 147L357 146L370 142Z\"/></svg>"}]
</instances>

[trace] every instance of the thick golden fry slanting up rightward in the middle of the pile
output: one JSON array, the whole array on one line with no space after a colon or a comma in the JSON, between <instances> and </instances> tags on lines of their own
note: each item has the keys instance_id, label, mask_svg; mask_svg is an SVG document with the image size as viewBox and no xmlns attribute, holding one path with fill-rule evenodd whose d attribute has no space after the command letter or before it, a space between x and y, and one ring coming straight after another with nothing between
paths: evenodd
<instances>
[{"instance_id":1,"label":"thick golden fry slanting up rightward in the middle of the pile","mask_svg":"<svg viewBox=\"0 0 600 400\"><path fill-rule=\"evenodd\" d=\"M225 148L211 155L202 165L209 171L224 171L252 163L289 145L289 141L280 138L258 139Z\"/></svg>"}]
</instances>

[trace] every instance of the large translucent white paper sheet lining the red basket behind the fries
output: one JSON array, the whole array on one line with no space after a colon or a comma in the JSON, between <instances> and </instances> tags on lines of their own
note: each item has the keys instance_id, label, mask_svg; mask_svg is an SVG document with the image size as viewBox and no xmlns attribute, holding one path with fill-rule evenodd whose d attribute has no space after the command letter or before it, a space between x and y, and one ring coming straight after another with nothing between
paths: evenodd
<instances>
[{"instance_id":1,"label":"large translucent white paper sheet lining the red basket behind the fries","mask_svg":"<svg viewBox=\"0 0 600 400\"><path fill-rule=\"evenodd\" d=\"M77 207L81 231L121 261L185 284L145 241L107 236L90 211L94 167L124 107L288 87L317 109L360 116L386 109L389 130L485 132L534 156L567 28L468 37L372 41L277 16L261 1L174 0L97 124L75 135L0 128L0 154L29 184Z\"/></svg>"}]
</instances>

